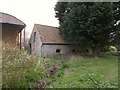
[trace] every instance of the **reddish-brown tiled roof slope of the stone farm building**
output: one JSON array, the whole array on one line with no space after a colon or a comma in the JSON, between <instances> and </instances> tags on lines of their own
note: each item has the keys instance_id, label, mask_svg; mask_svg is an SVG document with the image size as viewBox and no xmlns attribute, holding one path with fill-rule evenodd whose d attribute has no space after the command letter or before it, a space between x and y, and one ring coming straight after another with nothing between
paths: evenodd
<instances>
[{"instance_id":1,"label":"reddish-brown tiled roof slope of the stone farm building","mask_svg":"<svg viewBox=\"0 0 120 90\"><path fill-rule=\"evenodd\" d=\"M55 44L66 44L63 38L59 34L59 30L56 27L35 24L42 43L55 43Z\"/></svg>"}]
</instances>

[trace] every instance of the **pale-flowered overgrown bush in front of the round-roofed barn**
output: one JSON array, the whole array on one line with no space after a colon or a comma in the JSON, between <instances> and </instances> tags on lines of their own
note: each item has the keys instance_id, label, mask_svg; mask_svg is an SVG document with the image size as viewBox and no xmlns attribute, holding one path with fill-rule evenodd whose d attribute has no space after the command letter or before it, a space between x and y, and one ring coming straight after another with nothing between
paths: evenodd
<instances>
[{"instance_id":1,"label":"pale-flowered overgrown bush in front of the round-roofed barn","mask_svg":"<svg viewBox=\"0 0 120 90\"><path fill-rule=\"evenodd\" d=\"M29 88L33 83L47 77L37 56L8 47L3 47L2 55L3 88Z\"/></svg>"}]
</instances>

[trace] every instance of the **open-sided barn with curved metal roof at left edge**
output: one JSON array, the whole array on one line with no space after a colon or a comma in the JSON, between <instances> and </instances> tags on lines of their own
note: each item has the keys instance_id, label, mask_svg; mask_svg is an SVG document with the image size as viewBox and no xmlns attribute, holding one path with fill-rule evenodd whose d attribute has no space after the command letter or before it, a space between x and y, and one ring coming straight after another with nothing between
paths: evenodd
<instances>
[{"instance_id":1,"label":"open-sided barn with curved metal roof at left edge","mask_svg":"<svg viewBox=\"0 0 120 90\"><path fill-rule=\"evenodd\" d=\"M21 31L25 24L16 17L0 12L1 40L10 47L21 47Z\"/></svg>"}]
</instances>

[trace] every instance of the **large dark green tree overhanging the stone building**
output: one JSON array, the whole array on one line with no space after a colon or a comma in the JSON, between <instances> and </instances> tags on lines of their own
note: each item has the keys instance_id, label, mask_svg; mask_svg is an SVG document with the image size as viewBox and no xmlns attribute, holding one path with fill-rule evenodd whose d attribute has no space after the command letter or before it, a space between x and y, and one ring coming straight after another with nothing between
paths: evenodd
<instances>
[{"instance_id":1,"label":"large dark green tree overhanging the stone building","mask_svg":"<svg viewBox=\"0 0 120 90\"><path fill-rule=\"evenodd\" d=\"M65 8L61 7L62 4L66 5ZM69 2L57 3L56 7L55 11L60 15L56 14L60 21L60 34L66 41L89 48L92 56L99 56L101 49L110 44L111 33L116 32L115 24L119 20L116 3Z\"/></svg>"}]
</instances>

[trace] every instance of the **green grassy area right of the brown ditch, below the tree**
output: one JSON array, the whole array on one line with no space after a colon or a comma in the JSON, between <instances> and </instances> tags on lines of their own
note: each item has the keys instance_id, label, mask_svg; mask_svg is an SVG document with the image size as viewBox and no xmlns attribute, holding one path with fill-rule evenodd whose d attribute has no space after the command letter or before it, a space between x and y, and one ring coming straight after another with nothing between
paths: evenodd
<instances>
[{"instance_id":1,"label":"green grassy area right of the brown ditch, below the tree","mask_svg":"<svg viewBox=\"0 0 120 90\"><path fill-rule=\"evenodd\" d=\"M54 60L55 61L55 60ZM56 61L58 61L56 59ZM61 69L48 88L117 88L118 57L62 59Z\"/></svg>"}]
</instances>

